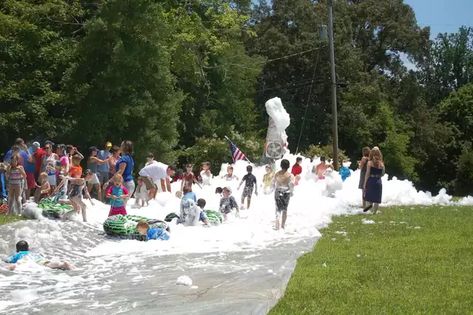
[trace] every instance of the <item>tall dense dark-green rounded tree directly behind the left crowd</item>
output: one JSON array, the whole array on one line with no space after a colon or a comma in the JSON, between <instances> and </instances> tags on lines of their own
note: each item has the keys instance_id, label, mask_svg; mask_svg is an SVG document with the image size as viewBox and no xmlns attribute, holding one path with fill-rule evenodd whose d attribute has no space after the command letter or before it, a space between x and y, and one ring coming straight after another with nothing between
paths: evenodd
<instances>
[{"instance_id":1,"label":"tall dense dark-green rounded tree directly behind the left crowd","mask_svg":"<svg viewBox=\"0 0 473 315\"><path fill-rule=\"evenodd\" d=\"M167 159L178 141L182 93L171 74L172 28L151 0L107 1L86 26L65 81L78 143L136 140Z\"/></svg>"}]
</instances>

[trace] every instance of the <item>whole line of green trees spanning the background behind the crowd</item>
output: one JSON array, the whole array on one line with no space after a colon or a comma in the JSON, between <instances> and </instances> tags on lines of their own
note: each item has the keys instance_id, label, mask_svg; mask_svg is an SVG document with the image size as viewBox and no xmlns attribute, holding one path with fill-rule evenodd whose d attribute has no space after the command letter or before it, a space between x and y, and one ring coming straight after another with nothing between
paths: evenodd
<instances>
[{"instance_id":1,"label":"whole line of green trees spanning the background behind the crowd","mask_svg":"<svg viewBox=\"0 0 473 315\"><path fill-rule=\"evenodd\" d=\"M390 175L472 193L473 29L430 40L402 0L334 3L340 148L378 145ZM0 148L132 139L221 163L228 135L258 160L278 96L291 151L310 153L332 141L326 24L326 1L2 1Z\"/></svg>"}]
</instances>

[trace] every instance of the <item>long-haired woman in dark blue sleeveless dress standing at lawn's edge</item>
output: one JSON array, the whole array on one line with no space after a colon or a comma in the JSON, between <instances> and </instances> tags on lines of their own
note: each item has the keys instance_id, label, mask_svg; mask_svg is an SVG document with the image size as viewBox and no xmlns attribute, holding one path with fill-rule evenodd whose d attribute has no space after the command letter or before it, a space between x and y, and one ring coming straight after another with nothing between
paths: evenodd
<instances>
[{"instance_id":1,"label":"long-haired woman in dark blue sleeveless dress standing at lawn's edge","mask_svg":"<svg viewBox=\"0 0 473 315\"><path fill-rule=\"evenodd\" d=\"M378 211L379 204L383 195L383 182L381 177L385 173L383 155L378 147L374 147L370 152L370 160L366 165L365 176L365 200L369 205L363 209L363 212L373 208L373 213Z\"/></svg>"}]
</instances>

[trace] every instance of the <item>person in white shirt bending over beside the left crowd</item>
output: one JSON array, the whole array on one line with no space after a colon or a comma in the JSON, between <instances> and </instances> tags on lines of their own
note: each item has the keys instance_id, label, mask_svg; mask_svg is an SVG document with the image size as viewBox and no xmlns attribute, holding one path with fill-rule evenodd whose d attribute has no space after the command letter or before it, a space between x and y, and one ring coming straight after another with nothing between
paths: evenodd
<instances>
[{"instance_id":1,"label":"person in white shirt bending over beside the left crowd","mask_svg":"<svg viewBox=\"0 0 473 315\"><path fill-rule=\"evenodd\" d=\"M174 176L175 172L174 166L156 162L143 167L139 174L143 177L146 188L150 190L150 196L153 197L156 187L171 192L171 176Z\"/></svg>"}]
</instances>

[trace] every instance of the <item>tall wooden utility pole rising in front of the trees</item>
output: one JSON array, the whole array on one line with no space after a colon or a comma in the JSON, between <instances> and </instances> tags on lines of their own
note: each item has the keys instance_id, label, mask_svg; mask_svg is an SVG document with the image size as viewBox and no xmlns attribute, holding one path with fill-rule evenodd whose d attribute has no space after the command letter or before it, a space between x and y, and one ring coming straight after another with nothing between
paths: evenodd
<instances>
[{"instance_id":1,"label":"tall wooden utility pole rising in front of the trees","mask_svg":"<svg viewBox=\"0 0 473 315\"><path fill-rule=\"evenodd\" d=\"M330 50L330 68L332 72L333 167L335 170L338 170L337 77L335 74L335 48L333 44L333 0L328 0L328 44Z\"/></svg>"}]
</instances>

